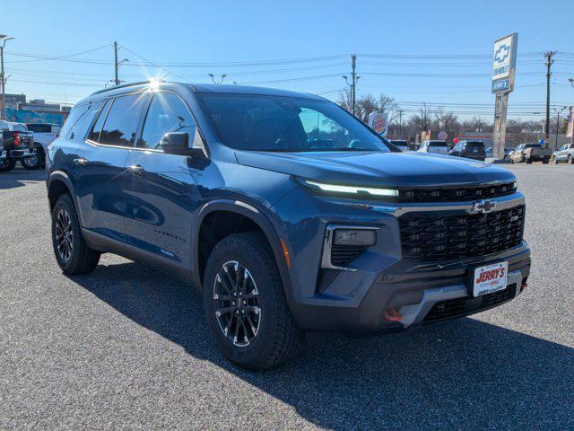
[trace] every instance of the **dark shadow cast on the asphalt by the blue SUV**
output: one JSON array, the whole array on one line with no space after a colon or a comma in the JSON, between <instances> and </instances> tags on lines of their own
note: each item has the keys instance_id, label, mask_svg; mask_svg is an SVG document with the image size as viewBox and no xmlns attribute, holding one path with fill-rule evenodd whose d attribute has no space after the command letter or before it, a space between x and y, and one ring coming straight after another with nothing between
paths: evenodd
<instances>
[{"instance_id":1,"label":"dark shadow cast on the asphalt by the blue SUV","mask_svg":"<svg viewBox=\"0 0 574 431\"><path fill-rule=\"evenodd\" d=\"M71 278L189 355L291 405L317 427L574 426L574 349L514 330L465 318L374 338L309 333L291 363L251 373L227 363L211 343L193 287L131 262Z\"/></svg>"}]
</instances>

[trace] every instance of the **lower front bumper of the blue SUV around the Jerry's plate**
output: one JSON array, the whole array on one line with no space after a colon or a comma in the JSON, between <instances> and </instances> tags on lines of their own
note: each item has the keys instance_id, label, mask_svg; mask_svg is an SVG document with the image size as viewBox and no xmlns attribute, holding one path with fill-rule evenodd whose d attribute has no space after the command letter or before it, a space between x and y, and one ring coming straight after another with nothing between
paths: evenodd
<instances>
[{"instance_id":1,"label":"lower front bumper of the blue SUV around the Jerry's plate","mask_svg":"<svg viewBox=\"0 0 574 431\"><path fill-rule=\"evenodd\" d=\"M500 261L509 262L507 289L476 298L470 295L469 271L476 265ZM458 262L452 268L437 266L419 271L414 264L405 267L403 261L379 274L356 307L298 305L294 313L300 326L307 329L350 333L406 330L432 321L483 312L514 299L522 292L522 285L530 273L530 263L526 242L488 259ZM388 321L384 317L389 308L400 313L400 321Z\"/></svg>"}]
</instances>

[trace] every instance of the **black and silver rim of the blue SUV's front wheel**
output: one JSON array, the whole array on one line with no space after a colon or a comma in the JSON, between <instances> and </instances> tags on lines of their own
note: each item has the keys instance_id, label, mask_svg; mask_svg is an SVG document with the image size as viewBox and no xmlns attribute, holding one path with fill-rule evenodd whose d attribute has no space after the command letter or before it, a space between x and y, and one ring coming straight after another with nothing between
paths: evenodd
<instances>
[{"instance_id":1,"label":"black and silver rim of the blue SUV's front wheel","mask_svg":"<svg viewBox=\"0 0 574 431\"><path fill-rule=\"evenodd\" d=\"M261 307L248 268L236 260L225 262L215 276L213 301L222 334L238 347L252 343L261 325Z\"/></svg>"}]
</instances>

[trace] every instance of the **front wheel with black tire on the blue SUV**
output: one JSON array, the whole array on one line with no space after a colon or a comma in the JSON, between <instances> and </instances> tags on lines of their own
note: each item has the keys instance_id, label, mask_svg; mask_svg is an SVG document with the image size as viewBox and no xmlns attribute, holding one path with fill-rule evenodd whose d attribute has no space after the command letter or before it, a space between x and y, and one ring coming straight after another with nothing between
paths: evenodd
<instances>
[{"instance_id":1,"label":"front wheel with black tire on the blue SUV","mask_svg":"<svg viewBox=\"0 0 574 431\"><path fill-rule=\"evenodd\" d=\"M239 366L273 368L300 345L301 331L261 233L236 233L215 245L205 268L204 308L217 346Z\"/></svg>"}]
</instances>

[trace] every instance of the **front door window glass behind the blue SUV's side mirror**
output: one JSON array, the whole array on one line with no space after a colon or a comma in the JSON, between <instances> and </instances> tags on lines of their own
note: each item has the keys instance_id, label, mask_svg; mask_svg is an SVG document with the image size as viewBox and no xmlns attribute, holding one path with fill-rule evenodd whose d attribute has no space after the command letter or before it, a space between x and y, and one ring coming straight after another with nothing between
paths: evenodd
<instances>
[{"instance_id":1,"label":"front door window glass behind the blue SUV's side mirror","mask_svg":"<svg viewBox=\"0 0 574 431\"><path fill-rule=\"evenodd\" d=\"M170 92L155 93L145 117L138 146L161 149L161 136L170 132L187 133L189 145L191 145L196 133L196 123L187 110L187 106L178 96Z\"/></svg>"}]
</instances>

